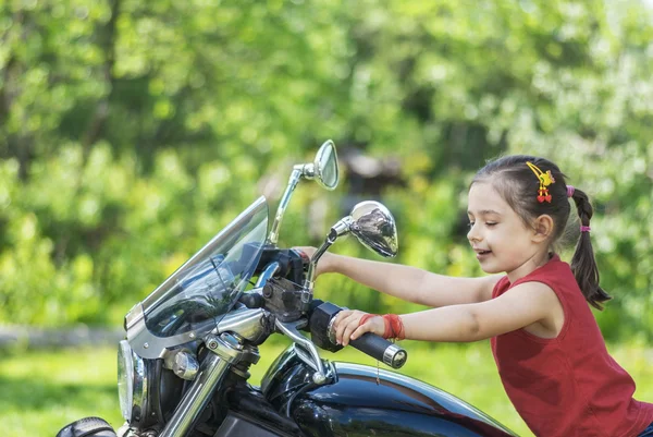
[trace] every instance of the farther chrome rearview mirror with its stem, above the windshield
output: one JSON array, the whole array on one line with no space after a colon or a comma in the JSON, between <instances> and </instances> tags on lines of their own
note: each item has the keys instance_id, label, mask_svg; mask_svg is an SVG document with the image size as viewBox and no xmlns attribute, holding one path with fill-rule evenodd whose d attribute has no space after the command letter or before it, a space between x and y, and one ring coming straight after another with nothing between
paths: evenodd
<instances>
[{"instance_id":1,"label":"farther chrome rearview mirror with its stem, above the windshield","mask_svg":"<svg viewBox=\"0 0 653 437\"><path fill-rule=\"evenodd\" d=\"M276 245L281 220L288 206L291 196L301 178L313 179L326 190L334 190L337 186L340 180L337 154L335 151L335 144L333 144L331 139L326 139L324 144L322 144L312 162L298 163L293 167L293 173L288 180L288 185L281 197L279 208L276 208L276 215L274 216L274 221L272 222L272 228L268 235L268 244Z\"/></svg>"}]
</instances>

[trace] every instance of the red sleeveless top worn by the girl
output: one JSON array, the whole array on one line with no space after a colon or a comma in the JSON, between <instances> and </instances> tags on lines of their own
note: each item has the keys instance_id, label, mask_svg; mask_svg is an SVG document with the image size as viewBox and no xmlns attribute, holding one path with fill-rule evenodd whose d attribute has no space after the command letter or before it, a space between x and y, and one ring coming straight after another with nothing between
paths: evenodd
<instances>
[{"instance_id":1,"label":"red sleeveless top worn by the girl","mask_svg":"<svg viewBox=\"0 0 653 437\"><path fill-rule=\"evenodd\" d=\"M518 329L491 339L506 393L539 437L636 437L653 422L653 404L632 398L634 381L605 349L603 336L567 263L557 255L512 284L502 278L497 298L537 281L559 299L565 323L555 339Z\"/></svg>"}]
</instances>

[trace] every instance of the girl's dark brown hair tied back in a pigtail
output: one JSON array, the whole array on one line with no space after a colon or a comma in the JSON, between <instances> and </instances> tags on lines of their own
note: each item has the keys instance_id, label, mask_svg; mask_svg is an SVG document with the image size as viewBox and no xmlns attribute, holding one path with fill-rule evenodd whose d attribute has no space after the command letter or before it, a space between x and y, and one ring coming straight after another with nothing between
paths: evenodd
<instances>
[{"instance_id":1,"label":"girl's dark brown hair tied back in a pigtail","mask_svg":"<svg viewBox=\"0 0 653 437\"><path fill-rule=\"evenodd\" d=\"M544 173L551 171L555 180L547 186L551 203L538 202L540 180L526 162L532 162ZM563 236L571 207L567 202L565 174L555 163L534 156L505 156L488 162L478 171L471 184L475 182L490 182L527 226L532 226L532 220L543 214L551 216L554 223L552 243ZM594 210L588 195L575 189L572 199L581 226L589 227ZM589 232L580 232L571 258L571 271L587 301L595 308L603 309L601 304L612 298L599 286L599 269Z\"/></svg>"}]
</instances>

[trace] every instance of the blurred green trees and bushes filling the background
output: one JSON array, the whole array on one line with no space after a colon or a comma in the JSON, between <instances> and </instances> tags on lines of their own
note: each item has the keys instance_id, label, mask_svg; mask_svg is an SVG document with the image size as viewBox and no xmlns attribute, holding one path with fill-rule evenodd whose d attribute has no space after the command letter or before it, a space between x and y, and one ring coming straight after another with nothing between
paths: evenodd
<instances>
[{"instance_id":1,"label":"blurred green trees and bushes filling the background","mask_svg":"<svg viewBox=\"0 0 653 437\"><path fill-rule=\"evenodd\" d=\"M604 332L651 340L651 19L634 0L3 2L0 320L120 323L258 194L274 208L292 163L333 138L401 162L404 183L381 191L397 260L452 275L480 272L461 229L473 171L553 159L597 206ZM324 231L344 213L346 173L334 193L304 183L282 244L319 243L308 213L338 205Z\"/></svg>"}]
</instances>

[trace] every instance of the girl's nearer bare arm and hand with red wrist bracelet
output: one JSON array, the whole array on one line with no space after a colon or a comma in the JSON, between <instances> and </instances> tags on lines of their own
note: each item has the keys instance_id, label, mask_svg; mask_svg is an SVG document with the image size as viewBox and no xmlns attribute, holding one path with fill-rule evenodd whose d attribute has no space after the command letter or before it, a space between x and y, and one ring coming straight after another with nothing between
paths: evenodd
<instances>
[{"instance_id":1,"label":"girl's nearer bare arm and hand with red wrist bracelet","mask_svg":"<svg viewBox=\"0 0 653 437\"><path fill-rule=\"evenodd\" d=\"M541 282L521 283L501 296L472 304L453 305L401 316L406 339L469 342L510 332L562 313L555 292ZM384 332L381 317L359 325L361 312L341 312L334 323L336 340L346 345L350 339L371 331Z\"/></svg>"}]
</instances>

